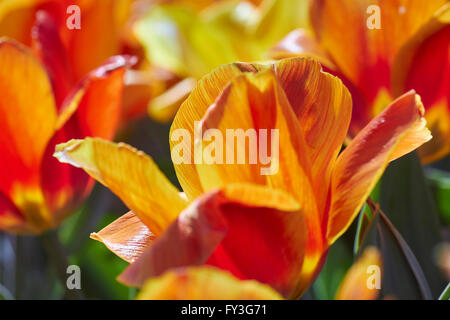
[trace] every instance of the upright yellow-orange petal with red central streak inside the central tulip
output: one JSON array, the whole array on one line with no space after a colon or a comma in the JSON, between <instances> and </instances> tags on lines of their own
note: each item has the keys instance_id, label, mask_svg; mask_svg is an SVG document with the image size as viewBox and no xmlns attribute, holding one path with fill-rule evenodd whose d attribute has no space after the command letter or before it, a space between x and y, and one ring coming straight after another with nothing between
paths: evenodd
<instances>
[{"instance_id":1,"label":"upright yellow-orange petal with red central streak inside the central tulip","mask_svg":"<svg viewBox=\"0 0 450 320\"><path fill-rule=\"evenodd\" d=\"M305 64L313 63L304 61ZM320 68L317 63L315 65ZM280 68L282 69L281 65ZM280 74L282 73L280 70ZM296 89L301 91L302 82L296 83ZM290 89L293 88L291 85ZM223 164L208 164L207 157L203 157L203 164L197 164L203 189L220 188L229 183L254 183L284 190L302 205L310 237L307 255L308 258L314 256L314 260L318 260L318 253L321 253L322 248L322 232L317 198L311 182L308 146L275 72L269 69L236 77L208 109L201 124L203 133L207 133L208 129L218 130L226 145L222 152ZM252 138L241 142L235 139L232 150L231 143L227 141L227 131L230 129L242 129L244 132L250 130ZM260 130L267 130L267 136L262 136ZM205 136L207 134L198 142L208 147L212 143L205 142ZM260 152L261 149L265 151L266 147L261 144L260 139L267 140L267 154L271 156L269 163L261 162L263 159ZM199 143L195 147L199 147ZM234 158L231 159L231 164L227 164L226 153L230 149L234 151ZM239 154L245 155L244 164L239 164ZM254 156L256 164L251 164L250 155ZM323 184L321 187L323 189ZM325 195L326 193L325 190ZM325 206L325 199L323 202Z\"/></svg>"}]
</instances>

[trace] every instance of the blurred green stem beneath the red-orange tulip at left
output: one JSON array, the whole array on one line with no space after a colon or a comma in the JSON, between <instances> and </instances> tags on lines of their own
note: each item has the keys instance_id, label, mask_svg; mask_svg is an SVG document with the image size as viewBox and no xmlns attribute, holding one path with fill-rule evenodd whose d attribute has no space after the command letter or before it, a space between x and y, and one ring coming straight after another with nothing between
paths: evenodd
<instances>
[{"instance_id":1,"label":"blurred green stem beneath the red-orange tulip at left","mask_svg":"<svg viewBox=\"0 0 450 320\"><path fill-rule=\"evenodd\" d=\"M67 267L68 260L65 249L59 241L57 231L49 231L41 235L42 246L45 249L50 263L53 265L56 275L65 289L65 298L69 300L82 300L81 290L70 290L67 288Z\"/></svg>"}]
</instances>

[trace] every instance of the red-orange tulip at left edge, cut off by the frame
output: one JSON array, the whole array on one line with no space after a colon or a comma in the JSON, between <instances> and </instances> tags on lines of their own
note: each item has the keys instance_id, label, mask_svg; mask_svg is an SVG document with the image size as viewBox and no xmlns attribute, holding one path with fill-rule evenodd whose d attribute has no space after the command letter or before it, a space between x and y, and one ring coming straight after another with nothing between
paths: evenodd
<instances>
[{"instance_id":1,"label":"red-orange tulip at left edge, cut off by the frame","mask_svg":"<svg viewBox=\"0 0 450 320\"><path fill-rule=\"evenodd\" d=\"M72 84L59 72L64 56L46 60L60 53L46 35L40 44L47 69L28 48L0 39L0 229L8 232L41 233L73 211L92 181L55 161L55 145L86 136L111 139L120 116L130 58L113 57Z\"/></svg>"}]
</instances>

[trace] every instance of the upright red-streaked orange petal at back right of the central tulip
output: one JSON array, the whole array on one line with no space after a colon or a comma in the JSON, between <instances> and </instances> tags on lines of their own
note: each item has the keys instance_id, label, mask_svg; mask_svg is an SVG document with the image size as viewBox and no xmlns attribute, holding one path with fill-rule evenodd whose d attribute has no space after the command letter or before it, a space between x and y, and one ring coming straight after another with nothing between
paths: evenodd
<instances>
[{"instance_id":1,"label":"upright red-streaked orange petal at back right of the central tulip","mask_svg":"<svg viewBox=\"0 0 450 320\"><path fill-rule=\"evenodd\" d=\"M317 202L324 211L331 169L352 116L350 93L342 81L311 59L285 59L275 64L281 86L299 120Z\"/></svg>"}]
</instances>

